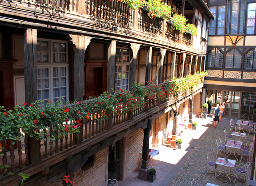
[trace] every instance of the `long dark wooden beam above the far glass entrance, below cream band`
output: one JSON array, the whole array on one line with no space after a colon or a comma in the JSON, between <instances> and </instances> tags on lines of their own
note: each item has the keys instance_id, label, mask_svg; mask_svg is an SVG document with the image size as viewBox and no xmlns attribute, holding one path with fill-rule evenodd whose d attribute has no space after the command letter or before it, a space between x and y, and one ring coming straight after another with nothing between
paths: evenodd
<instances>
[{"instance_id":1,"label":"long dark wooden beam above the far glass entrance, below cream band","mask_svg":"<svg viewBox=\"0 0 256 186\"><path fill-rule=\"evenodd\" d=\"M248 86L204 84L204 88L213 89L213 90L230 90L230 91L236 91L236 92L256 92L256 87L248 87Z\"/></svg>"}]
</instances>

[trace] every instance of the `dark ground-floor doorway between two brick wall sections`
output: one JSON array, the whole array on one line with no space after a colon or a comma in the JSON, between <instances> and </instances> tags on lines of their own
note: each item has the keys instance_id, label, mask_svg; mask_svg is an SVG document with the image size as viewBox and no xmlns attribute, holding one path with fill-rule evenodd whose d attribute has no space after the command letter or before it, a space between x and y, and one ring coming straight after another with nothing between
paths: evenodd
<instances>
[{"instance_id":1,"label":"dark ground-floor doorway between two brick wall sections","mask_svg":"<svg viewBox=\"0 0 256 186\"><path fill-rule=\"evenodd\" d=\"M108 146L108 179L119 179L120 172L120 141Z\"/></svg>"}]
</instances>

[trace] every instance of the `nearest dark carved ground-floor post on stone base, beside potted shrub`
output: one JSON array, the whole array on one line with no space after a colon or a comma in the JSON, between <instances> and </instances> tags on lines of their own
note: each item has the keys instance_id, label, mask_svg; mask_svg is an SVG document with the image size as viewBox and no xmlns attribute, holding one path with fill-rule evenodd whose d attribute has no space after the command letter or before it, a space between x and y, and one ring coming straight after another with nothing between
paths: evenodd
<instances>
[{"instance_id":1,"label":"nearest dark carved ground-floor post on stone base, beside potted shrub","mask_svg":"<svg viewBox=\"0 0 256 186\"><path fill-rule=\"evenodd\" d=\"M152 118L148 118L147 127L144 128L144 138L143 138L143 147L142 147L142 166L139 169L139 176L138 178L142 180L147 180L147 173L148 173L148 153L149 153L149 132L151 129L151 121Z\"/></svg>"}]
</instances>

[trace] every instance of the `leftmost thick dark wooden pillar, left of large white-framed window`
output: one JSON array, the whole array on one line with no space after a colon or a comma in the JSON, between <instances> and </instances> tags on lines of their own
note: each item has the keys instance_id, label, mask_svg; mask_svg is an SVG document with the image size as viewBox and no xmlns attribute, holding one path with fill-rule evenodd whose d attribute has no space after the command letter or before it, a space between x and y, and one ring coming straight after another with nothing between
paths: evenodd
<instances>
[{"instance_id":1,"label":"leftmost thick dark wooden pillar, left of large white-framed window","mask_svg":"<svg viewBox=\"0 0 256 186\"><path fill-rule=\"evenodd\" d=\"M36 84L36 44L37 30L27 29L24 32L24 80L26 106L37 100ZM40 140L28 138L30 164L40 163Z\"/></svg>"}]
</instances>

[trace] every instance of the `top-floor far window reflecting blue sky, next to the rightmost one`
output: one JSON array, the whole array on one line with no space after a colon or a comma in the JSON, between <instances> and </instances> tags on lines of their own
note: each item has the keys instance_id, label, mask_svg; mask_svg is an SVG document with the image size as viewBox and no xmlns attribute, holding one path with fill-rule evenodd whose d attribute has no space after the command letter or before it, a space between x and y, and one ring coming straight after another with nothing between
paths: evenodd
<instances>
[{"instance_id":1,"label":"top-floor far window reflecting blue sky, next to the rightmost one","mask_svg":"<svg viewBox=\"0 0 256 186\"><path fill-rule=\"evenodd\" d=\"M240 15L239 15L239 8L241 10ZM243 34L244 33L244 17L245 17L245 0L240 0L240 1L228 0L226 34Z\"/></svg>"}]
</instances>

